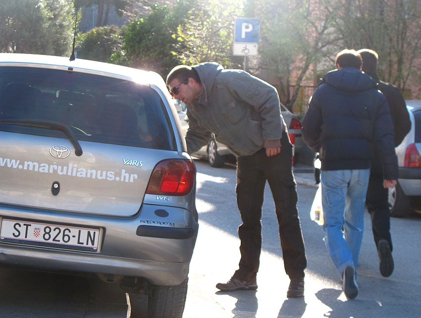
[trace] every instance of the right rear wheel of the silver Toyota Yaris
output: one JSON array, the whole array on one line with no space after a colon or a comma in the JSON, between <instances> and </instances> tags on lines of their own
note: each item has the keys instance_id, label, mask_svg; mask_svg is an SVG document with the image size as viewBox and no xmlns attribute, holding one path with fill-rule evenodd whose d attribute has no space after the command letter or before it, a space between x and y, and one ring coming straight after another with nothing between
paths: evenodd
<instances>
[{"instance_id":1,"label":"right rear wheel of the silver Toyota Yaris","mask_svg":"<svg viewBox=\"0 0 421 318\"><path fill-rule=\"evenodd\" d=\"M152 285L148 297L148 318L182 318L187 280L178 286Z\"/></svg>"}]
</instances>

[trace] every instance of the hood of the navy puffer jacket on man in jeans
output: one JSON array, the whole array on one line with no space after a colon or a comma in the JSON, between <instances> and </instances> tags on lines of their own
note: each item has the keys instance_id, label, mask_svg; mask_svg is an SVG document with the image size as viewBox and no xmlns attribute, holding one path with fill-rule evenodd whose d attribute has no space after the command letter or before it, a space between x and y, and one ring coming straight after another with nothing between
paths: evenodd
<instances>
[{"instance_id":1,"label":"hood of the navy puffer jacket on man in jeans","mask_svg":"<svg viewBox=\"0 0 421 318\"><path fill-rule=\"evenodd\" d=\"M344 67L328 72L324 82L340 91L355 93L376 88L376 81L354 67Z\"/></svg>"}]
</instances>

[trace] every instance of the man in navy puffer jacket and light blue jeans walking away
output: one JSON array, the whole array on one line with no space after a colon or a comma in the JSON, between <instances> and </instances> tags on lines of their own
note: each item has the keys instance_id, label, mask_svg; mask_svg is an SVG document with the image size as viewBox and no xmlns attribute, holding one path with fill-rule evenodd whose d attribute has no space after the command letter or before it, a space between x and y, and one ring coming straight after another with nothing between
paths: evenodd
<instances>
[{"instance_id":1,"label":"man in navy puffer jacket and light blue jeans walking away","mask_svg":"<svg viewBox=\"0 0 421 318\"><path fill-rule=\"evenodd\" d=\"M324 241L348 298L358 295L356 268L373 147L383 164L383 186L395 185L398 177L389 107L361 65L355 50L338 53L337 69L325 75L302 120L304 141L320 153Z\"/></svg>"}]
</instances>

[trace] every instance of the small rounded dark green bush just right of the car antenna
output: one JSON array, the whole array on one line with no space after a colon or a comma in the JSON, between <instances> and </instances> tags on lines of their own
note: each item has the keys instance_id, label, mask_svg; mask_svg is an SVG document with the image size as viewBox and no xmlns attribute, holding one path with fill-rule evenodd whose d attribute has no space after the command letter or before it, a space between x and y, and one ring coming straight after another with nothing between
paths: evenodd
<instances>
[{"instance_id":1,"label":"small rounded dark green bush just right of the car antenna","mask_svg":"<svg viewBox=\"0 0 421 318\"><path fill-rule=\"evenodd\" d=\"M107 62L112 54L121 51L124 30L125 28L120 30L117 26L111 25L96 27L81 34L78 38L80 48L77 57Z\"/></svg>"}]
</instances>

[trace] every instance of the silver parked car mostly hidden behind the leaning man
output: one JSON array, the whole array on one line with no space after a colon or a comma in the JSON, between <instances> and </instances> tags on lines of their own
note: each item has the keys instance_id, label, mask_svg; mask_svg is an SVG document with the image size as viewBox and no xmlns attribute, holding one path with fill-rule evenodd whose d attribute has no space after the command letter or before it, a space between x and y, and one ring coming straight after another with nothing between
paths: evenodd
<instances>
[{"instance_id":1,"label":"silver parked car mostly hidden behind the leaning man","mask_svg":"<svg viewBox=\"0 0 421 318\"><path fill-rule=\"evenodd\" d=\"M186 106L184 105L184 103L178 100L174 101L175 106L177 108L178 116L181 121L181 127L185 135L187 129L189 128L189 118L186 114ZM289 111L282 104L281 113L288 127L288 132L290 134L295 134L295 153L298 153L303 146L303 139L301 135L301 122L298 118L295 117L295 115L291 111ZM234 155L231 154L231 152L224 144L218 143L215 140L215 136L213 136L213 134L209 144L207 146L202 147L196 153L192 154L192 156L208 159L209 164L212 167L221 167L224 165L226 160L235 158Z\"/></svg>"}]
</instances>

